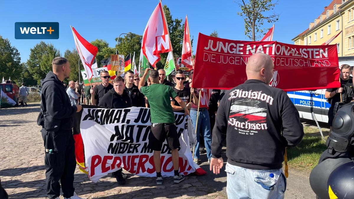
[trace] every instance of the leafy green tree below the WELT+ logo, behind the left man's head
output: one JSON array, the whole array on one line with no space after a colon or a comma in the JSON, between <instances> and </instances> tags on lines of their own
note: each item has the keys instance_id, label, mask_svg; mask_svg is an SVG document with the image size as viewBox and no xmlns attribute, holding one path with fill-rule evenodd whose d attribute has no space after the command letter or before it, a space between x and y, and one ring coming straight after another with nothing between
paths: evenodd
<instances>
[{"instance_id":1,"label":"leafy green tree below the WELT+ logo, behind the left man's head","mask_svg":"<svg viewBox=\"0 0 354 199\"><path fill-rule=\"evenodd\" d=\"M33 79L36 80L38 84L40 84L40 80L44 79L46 74L52 70L53 58L60 56L59 49L56 49L51 43L46 44L44 41L39 42L30 49L27 66Z\"/></svg>"}]
</instances>

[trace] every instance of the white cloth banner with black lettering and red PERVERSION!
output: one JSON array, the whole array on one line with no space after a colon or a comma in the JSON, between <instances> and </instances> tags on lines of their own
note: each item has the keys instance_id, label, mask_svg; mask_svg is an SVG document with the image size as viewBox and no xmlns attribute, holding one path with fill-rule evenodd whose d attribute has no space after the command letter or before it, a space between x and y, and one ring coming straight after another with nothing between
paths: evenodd
<instances>
[{"instance_id":1,"label":"white cloth banner with black lettering and red PERVERSION!","mask_svg":"<svg viewBox=\"0 0 354 199\"><path fill-rule=\"evenodd\" d=\"M175 113L179 136L179 172L188 175L201 168L193 162L187 133L187 119ZM123 167L126 171L146 177L156 177L153 150L148 146L150 109L83 108L80 131L85 153L85 170L90 180ZM204 172L204 171L203 171ZM202 172L200 172L202 174ZM171 150L165 141L161 150L161 174L173 176Z\"/></svg>"}]
</instances>

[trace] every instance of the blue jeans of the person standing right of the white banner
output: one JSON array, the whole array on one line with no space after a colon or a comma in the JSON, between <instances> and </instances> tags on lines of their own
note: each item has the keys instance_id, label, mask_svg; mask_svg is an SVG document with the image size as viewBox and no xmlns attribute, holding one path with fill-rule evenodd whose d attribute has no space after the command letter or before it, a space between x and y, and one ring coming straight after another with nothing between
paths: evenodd
<instances>
[{"instance_id":1,"label":"blue jeans of the person standing right of the white banner","mask_svg":"<svg viewBox=\"0 0 354 199\"><path fill-rule=\"evenodd\" d=\"M190 109L190 118L195 128L197 120L197 111ZM208 110L199 111L198 126L197 126L197 144L195 145L194 158L199 159L199 132L202 132L204 136L204 143L206 148L206 155L208 159L211 159L211 130L210 130L210 118Z\"/></svg>"}]
</instances>

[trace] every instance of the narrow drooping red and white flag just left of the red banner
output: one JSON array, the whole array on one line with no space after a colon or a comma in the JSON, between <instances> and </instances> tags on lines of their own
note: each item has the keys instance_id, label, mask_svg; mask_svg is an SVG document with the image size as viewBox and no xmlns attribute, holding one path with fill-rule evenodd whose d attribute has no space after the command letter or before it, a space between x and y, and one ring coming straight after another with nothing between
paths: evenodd
<instances>
[{"instance_id":1,"label":"narrow drooping red and white flag just left of the red banner","mask_svg":"<svg viewBox=\"0 0 354 199\"><path fill-rule=\"evenodd\" d=\"M185 67L192 68L192 45L190 44L190 34L187 15L185 16L184 36L182 46L182 64Z\"/></svg>"}]
</instances>

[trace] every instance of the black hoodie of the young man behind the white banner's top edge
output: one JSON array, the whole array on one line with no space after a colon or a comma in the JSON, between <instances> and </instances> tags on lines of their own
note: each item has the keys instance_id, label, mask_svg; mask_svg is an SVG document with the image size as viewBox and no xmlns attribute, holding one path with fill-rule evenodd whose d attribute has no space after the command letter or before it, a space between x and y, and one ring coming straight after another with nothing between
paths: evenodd
<instances>
[{"instance_id":1,"label":"black hoodie of the young man behind the white banner's top edge","mask_svg":"<svg viewBox=\"0 0 354 199\"><path fill-rule=\"evenodd\" d=\"M99 100L98 106L105 108L129 108L132 107L128 92L124 89L122 95L118 95L114 88L109 90Z\"/></svg>"}]
</instances>

